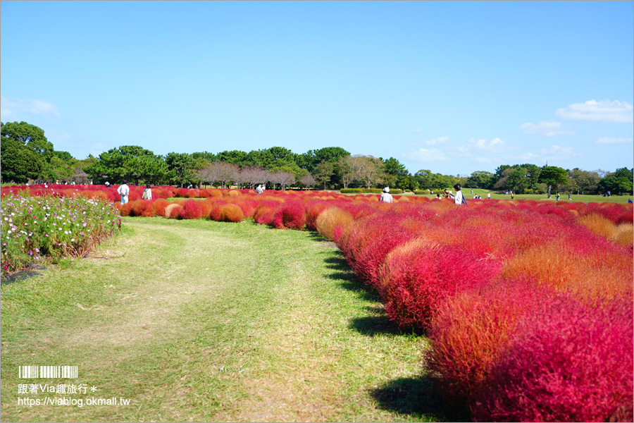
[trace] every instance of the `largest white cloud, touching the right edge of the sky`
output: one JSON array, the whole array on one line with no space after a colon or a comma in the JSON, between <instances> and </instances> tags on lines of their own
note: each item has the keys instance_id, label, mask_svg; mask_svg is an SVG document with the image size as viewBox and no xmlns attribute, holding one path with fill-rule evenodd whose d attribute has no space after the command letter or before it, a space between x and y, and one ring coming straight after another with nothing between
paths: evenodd
<instances>
[{"instance_id":1,"label":"largest white cloud, touching the right edge of the sky","mask_svg":"<svg viewBox=\"0 0 634 423\"><path fill-rule=\"evenodd\" d=\"M634 107L628 102L590 100L585 103L571 104L555 111L557 117L570 121L632 123Z\"/></svg>"}]
</instances>

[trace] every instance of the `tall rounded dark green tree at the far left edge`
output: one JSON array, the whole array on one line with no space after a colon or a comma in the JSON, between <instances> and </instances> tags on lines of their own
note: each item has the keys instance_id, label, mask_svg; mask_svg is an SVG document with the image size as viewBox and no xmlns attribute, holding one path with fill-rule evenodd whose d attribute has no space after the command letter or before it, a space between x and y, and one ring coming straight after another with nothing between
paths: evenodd
<instances>
[{"instance_id":1,"label":"tall rounded dark green tree at the far left edge","mask_svg":"<svg viewBox=\"0 0 634 423\"><path fill-rule=\"evenodd\" d=\"M26 122L0 122L0 154L3 182L26 183L48 178L53 145L44 130Z\"/></svg>"}]
</instances>

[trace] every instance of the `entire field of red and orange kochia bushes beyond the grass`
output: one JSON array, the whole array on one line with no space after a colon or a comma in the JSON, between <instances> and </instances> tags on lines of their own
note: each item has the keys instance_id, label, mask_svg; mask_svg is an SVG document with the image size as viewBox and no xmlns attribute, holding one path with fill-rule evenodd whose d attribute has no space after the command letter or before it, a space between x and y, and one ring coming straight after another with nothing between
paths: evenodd
<instances>
[{"instance_id":1,"label":"entire field of red and orange kochia bushes beyond the grass","mask_svg":"<svg viewBox=\"0 0 634 423\"><path fill-rule=\"evenodd\" d=\"M155 200L140 200L142 187L132 186L122 205L104 186L2 189L3 202L94 197L116 202L121 216L318 231L377 290L390 319L428 336L425 367L447 402L468 407L475 421L634 418L631 204L152 192Z\"/></svg>"}]
</instances>

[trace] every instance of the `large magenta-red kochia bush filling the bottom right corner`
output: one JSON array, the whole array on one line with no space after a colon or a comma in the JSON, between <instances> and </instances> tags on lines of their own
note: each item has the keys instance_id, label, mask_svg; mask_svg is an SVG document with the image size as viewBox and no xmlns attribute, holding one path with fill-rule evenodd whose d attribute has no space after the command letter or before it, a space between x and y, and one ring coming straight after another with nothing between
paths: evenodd
<instances>
[{"instance_id":1,"label":"large magenta-red kochia bush filling the bottom right corner","mask_svg":"<svg viewBox=\"0 0 634 423\"><path fill-rule=\"evenodd\" d=\"M487 422L632 422L631 298L549 302L518 326L473 417Z\"/></svg>"}]
</instances>

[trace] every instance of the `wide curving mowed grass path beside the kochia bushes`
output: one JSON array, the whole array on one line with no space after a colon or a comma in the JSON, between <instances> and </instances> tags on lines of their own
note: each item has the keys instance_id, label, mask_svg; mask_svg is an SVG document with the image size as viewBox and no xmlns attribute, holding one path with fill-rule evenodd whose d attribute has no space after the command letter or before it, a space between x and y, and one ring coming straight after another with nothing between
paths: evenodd
<instances>
[{"instance_id":1,"label":"wide curving mowed grass path beside the kochia bushes","mask_svg":"<svg viewBox=\"0 0 634 423\"><path fill-rule=\"evenodd\" d=\"M253 223L125 218L72 266L1 288L1 418L427 421L425 338L399 333L335 245ZM78 379L18 379L76 365ZM85 394L18 395L19 384ZM97 391L91 392L95 386ZM18 397L76 405L18 405ZM130 405L86 405L88 398Z\"/></svg>"}]
</instances>

